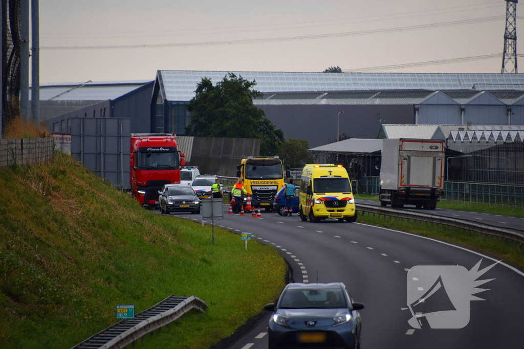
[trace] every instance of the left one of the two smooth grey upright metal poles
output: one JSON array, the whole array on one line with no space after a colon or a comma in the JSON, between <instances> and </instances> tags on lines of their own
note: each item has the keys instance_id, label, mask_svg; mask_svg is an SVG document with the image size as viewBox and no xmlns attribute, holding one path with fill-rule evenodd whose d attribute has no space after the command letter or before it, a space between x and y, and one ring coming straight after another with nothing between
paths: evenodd
<instances>
[{"instance_id":1,"label":"left one of the two smooth grey upright metal poles","mask_svg":"<svg viewBox=\"0 0 524 349\"><path fill-rule=\"evenodd\" d=\"M29 0L20 1L20 116L29 121Z\"/></svg>"}]
</instances>

